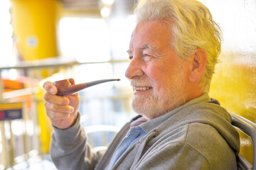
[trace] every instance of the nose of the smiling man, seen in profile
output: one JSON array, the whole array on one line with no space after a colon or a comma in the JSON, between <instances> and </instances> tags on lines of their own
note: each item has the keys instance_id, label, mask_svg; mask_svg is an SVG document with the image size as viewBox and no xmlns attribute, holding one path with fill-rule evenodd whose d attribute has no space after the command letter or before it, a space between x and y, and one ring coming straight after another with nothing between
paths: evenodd
<instances>
[{"instance_id":1,"label":"nose of the smiling man, seen in profile","mask_svg":"<svg viewBox=\"0 0 256 170\"><path fill-rule=\"evenodd\" d=\"M125 72L125 77L127 77L128 79L135 79L142 76L143 74L144 72L142 70L142 61L140 61L136 57L133 57L131 62L129 63L127 71Z\"/></svg>"}]
</instances>

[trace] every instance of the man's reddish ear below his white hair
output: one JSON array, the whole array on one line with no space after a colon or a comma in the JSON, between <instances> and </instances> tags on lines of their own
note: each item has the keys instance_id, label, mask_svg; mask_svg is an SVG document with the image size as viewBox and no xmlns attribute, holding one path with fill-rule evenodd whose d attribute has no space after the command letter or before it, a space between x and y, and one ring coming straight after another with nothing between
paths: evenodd
<instances>
[{"instance_id":1,"label":"man's reddish ear below his white hair","mask_svg":"<svg viewBox=\"0 0 256 170\"><path fill-rule=\"evenodd\" d=\"M191 55L191 70L189 74L189 81L196 82L201 80L203 73L206 70L207 53L205 50L198 48L193 55Z\"/></svg>"}]
</instances>

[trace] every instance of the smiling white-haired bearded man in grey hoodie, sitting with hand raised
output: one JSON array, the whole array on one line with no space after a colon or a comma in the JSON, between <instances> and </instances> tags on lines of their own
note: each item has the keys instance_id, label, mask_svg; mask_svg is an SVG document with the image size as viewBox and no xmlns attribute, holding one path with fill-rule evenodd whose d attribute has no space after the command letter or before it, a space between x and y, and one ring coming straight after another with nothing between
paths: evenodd
<instances>
[{"instance_id":1,"label":"smiling white-haired bearded man in grey hoodie, sitting with hand raised","mask_svg":"<svg viewBox=\"0 0 256 170\"><path fill-rule=\"evenodd\" d=\"M208 91L220 29L195 0L141 0L126 77L139 114L105 153L93 153L78 113L79 96L44 88L53 123L50 155L62 169L237 169L239 135ZM74 84L73 79L70 79Z\"/></svg>"}]
</instances>

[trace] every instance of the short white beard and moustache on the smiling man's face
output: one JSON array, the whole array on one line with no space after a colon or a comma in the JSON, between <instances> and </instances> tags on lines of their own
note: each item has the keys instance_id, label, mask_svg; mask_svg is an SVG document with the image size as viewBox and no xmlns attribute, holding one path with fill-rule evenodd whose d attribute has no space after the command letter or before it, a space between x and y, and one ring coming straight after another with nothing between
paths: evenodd
<instances>
[{"instance_id":1,"label":"short white beard and moustache on the smiling man's face","mask_svg":"<svg viewBox=\"0 0 256 170\"><path fill-rule=\"evenodd\" d=\"M164 115L165 113L186 103L186 84L180 69L172 79L171 86L156 91L153 86L153 92L149 95L134 95L132 98L133 110L145 118L153 119ZM148 77L131 80L131 84L149 85L153 84Z\"/></svg>"}]
</instances>

